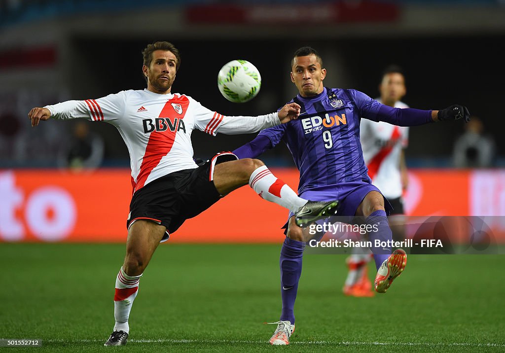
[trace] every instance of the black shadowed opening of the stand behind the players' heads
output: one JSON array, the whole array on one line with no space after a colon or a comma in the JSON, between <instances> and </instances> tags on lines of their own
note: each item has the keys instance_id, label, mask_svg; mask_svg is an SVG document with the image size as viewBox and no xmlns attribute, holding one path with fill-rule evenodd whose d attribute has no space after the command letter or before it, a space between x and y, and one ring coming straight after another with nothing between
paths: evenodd
<instances>
[{"instance_id":1,"label":"black shadowed opening of the stand behind the players' heads","mask_svg":"<svg viewBox=\"0 0 505 353\"><path fill-rule=\"evenodd\" d=\"M72 93L75 96L72 98L97 98L124 89L145 88L141 73L141 51L147 43L156 40L172 41L181 52L181 67L172 92L190 95L205 107L225 115L266 114L282 106L296 94L294 85L289 81L289 58L298 47L310 45L321 53L334 52L340 55L339 62L343 62L343 70L351 83L342 88L355 88L371 97L379 94L378 84L383 68L391 63L402 66L408 90L403 102L419 109L466 105L472 115L484 121L486 132L495 136L498 153L505 149L505 141L497 138L497 132L505 127L503 112L499 108L505 93L501 85L505 69L500 53L500 43L505 42L505 35L307 38L291 41L187 40L169 34L132 40L76 37L72 42L79 59L75 63ZM90 47L93 51L89 50ZM248 103L230 103L217 89L219 69L233 59L250 61L262 75L261 91ZM325 66L329 66L333 58L323 56L323 60ZM339 78L331 70L325 83L330 80L335 83L330 86L339 86ZM285 92L284 88L290 85L291 91ZM126 146L114 127L93 126L93 129L106 138L107 159L118 162L128 158ZM461 121L411 128L407 151L409 159L429 158L430 163L436 164L437 159L449 158L453 142L463 129ZM234 149L255 135L218 134L217 137L211 137L194 131L195 156L208 158L214 152ZM279 161L278 157L283 159ZM264 159L280 165L292 163L285 146L278 146L265 154Z\"/></svg>"}]
</instances>

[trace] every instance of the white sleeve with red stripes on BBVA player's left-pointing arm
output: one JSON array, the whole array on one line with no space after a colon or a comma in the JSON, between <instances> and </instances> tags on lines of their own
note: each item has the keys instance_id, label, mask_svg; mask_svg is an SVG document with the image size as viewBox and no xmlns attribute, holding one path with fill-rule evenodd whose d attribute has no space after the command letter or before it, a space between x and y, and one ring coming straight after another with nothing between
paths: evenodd
<instances>
[{"instance_id":1,"label":"white sleeve with red stripes on BBVA player's left-pointing arm","mask_svg":"<svg viewBox=\"0 0 505 353\"><path fill-rule=\"evenodd\" d=\"M84 118L114 124L124 113L125 93L121 91L97 99L67 100L67 102L44 108L51 112L51 117L54 119Z\"/></svg>"}]
</instances>

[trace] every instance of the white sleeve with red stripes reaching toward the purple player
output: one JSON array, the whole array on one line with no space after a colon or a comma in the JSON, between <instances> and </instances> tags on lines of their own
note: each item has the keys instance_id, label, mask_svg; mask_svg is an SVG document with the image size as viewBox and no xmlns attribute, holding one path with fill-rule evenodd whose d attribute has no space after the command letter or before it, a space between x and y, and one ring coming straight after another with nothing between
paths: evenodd
<instances>
[{"instance_id":1,"label":"white sleeve with red stripes reaching toward the purple player","mask_svg":"<svg viewBox=\"0 0 505 353\"><path fill-rule=\"evenodd\" d=\"M212 136L216 136L218 132L227 135L258 132L281 123L276 112L257 117L225 116L205 108L194 99L191 100L195 107L195 127Z\"/></svg>"}]
</instances>

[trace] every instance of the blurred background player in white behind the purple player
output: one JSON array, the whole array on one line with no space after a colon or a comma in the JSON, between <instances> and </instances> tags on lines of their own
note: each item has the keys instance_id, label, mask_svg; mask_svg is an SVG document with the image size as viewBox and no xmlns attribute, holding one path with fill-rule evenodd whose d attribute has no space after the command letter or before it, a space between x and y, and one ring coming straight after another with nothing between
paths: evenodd
<instances>
[{"instance_id":1,"label":"blurred background player in white behind the purple player","mask_svg":"<svg viewBox=\"0 0 505 353\"><path fill-rule=\"evenodd\" d=\"M380 97L376 100L393 108L409 108L401 99L407 94L405 75L401 67L390 65L382 74L379 84ZM408 145L409 127L396 126L384 121L375 122L362 119L360 140L363 157L368 168L372 184L381 190L393 207L389 216L389 225L395 240L402 240L405 234L403 226L403 200L401 195L408 186L405 148ZM372 282L367 275L367 264L372 254L353 254L346 260L349 272L343 292L352 296L373 296Z\"/></svg>"}]
</instances>

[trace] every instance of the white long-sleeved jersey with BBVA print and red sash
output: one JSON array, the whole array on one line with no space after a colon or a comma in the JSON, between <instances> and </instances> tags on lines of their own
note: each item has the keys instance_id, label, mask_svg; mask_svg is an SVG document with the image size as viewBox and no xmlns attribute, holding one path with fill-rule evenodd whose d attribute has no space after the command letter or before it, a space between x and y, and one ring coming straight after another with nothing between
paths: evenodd
<instances>
[{"instance_id":1,"label":"white long-sleeved jersey with BBVA print and red sash","mask_svg":"<svg viewBox=\"0 0 505 353\"><path fill-rule=\"evenodd\" d=\"M130 153L133 192L159 177L198 166L193 161L193 129L215 136L257 132L280 124L277 113L223 116L190 96L127 90L103 98L69 100L44 108L55 119L85 118L114 125Z\"/></svg>"}]
</instances>

